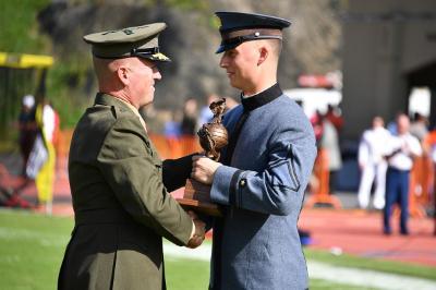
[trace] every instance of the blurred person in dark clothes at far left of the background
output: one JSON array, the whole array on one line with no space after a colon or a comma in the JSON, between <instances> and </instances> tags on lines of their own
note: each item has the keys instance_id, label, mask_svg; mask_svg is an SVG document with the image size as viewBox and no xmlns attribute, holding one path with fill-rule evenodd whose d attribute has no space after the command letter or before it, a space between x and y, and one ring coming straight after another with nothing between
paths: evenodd
<instances>
[{"instance_id":1,"label":"blurred person in dark clothes at far left of the background","mask_svg":"<svg viewBox=\"0 0 436 290\"><path fill-rule=\"evenodd\" d=\"M31 155L36 136L35 98L32 95L23 97L23 105L19 117L19 146L23 157L22 176L26 173L28 156Z\"/></svg>"}]
</instances>

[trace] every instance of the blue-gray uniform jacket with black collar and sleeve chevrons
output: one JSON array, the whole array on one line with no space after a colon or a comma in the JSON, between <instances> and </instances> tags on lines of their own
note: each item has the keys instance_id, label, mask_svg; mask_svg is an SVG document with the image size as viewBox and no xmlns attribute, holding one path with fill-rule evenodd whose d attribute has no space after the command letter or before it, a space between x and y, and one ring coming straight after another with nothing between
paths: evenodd
<instances>
[{"instance_id":1,"label":"blue-gray uniform jacket with black collar and sleeve chevrons","mask_svg":"<svg viewBox=\"0 0 436 290\"><path fill-rule=\"evenodd\" d=\"M306 289L296 223L316 157L313 129L278 84L225 116L230 135L244 110L230 166L218 168L210 192L225 216L214 222L209 287Z\"/></svg>"}]
</instances>

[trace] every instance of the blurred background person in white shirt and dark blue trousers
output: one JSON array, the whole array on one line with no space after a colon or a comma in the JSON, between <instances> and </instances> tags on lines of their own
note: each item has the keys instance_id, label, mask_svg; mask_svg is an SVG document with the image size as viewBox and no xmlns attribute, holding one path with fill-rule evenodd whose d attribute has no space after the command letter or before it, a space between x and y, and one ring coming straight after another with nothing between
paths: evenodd
<instances>
[{"instance_id":1,"label":"blurred background person in white shirt and dark blue trousers","mask_svg":"<svg viewBox=\"0 0 436 290\"><path fill-rule=\"evenodd\" d=\"M388 170L386 174L386 206L384 209L384 233L390 234L390 216L392 205L400 205L400 233L409 234L409 173L413 166L413 158L422 155L421 144L409 133L410 120L405 114L397 118L398 135L391 136L386 144L388 155Z\"/></svg>"}]
</instances>

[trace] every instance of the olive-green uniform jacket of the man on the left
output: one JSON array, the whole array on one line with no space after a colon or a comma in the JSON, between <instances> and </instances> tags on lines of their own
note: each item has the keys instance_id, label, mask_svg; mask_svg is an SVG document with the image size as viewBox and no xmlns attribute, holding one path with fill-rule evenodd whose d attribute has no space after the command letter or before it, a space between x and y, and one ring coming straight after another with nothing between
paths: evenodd
<instances>
[{"instance_id":1,"label":"olive-green uniform jacket of the man on the left","mask_svg":"<svg viewBox=\"0 0 436 290\"><path fill-rule=\"evenodd\" d=\"M190 172L190 157L162 164L138 117L97 94L71 143L75 227L58 288L165 289L161 237L185 245L192 231L168 191Z\"/></svg>"}]
</instances>

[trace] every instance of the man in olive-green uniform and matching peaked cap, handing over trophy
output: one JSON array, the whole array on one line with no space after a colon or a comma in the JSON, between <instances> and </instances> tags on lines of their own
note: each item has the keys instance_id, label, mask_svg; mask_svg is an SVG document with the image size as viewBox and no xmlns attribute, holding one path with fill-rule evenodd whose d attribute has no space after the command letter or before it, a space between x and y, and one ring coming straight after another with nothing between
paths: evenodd
<instances>
[{"instance_id":1,"label":"man in olive-green uniform and matching peaked cap, handing over trophy","mask_svg":"<svg viewBox=\"0 0 436 290\"><path fill-rule=\"evenodd\" d=\"M99 93L73 134L69 174L75 226L59 289L164 289L162 239L195 247L204 223L168 193L192 159L162 161L138 108L153 101L165 23L86 35Z\"/></svg>"}]
</instances>

